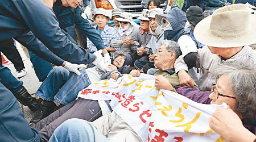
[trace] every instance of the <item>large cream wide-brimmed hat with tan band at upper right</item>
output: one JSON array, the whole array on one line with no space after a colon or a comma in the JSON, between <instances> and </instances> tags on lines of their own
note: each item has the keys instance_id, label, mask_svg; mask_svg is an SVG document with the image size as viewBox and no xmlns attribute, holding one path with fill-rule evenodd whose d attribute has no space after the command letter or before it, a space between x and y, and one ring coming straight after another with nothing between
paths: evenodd
<instances>
[{"instance_id":1,"label":"large cream wide-brimmed hat with tan band at upper right","mask_svg":"<svg viewBox=\"0 0 256 142\"><path fill-rule=\"evenodd\" d=\"M196 25L194 35L200 43L219 48L256 43L256 15L243 4L221 7Z\"/></svg>"}]
</instances>

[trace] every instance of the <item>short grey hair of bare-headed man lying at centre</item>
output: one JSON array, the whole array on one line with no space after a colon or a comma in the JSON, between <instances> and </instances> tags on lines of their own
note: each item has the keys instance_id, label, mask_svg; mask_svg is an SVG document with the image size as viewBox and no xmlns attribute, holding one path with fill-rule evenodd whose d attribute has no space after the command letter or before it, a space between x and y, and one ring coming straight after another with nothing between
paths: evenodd
<instances>
[{"instance_id":1,"label":"short grey hair of bare-headed man lying at centre","mask_svg":"<svg viewBox=\"0 0 256 142\"><path fill-rule=\"evenodd\" d=\"M181 55L180 46L175 41L163 40L161 45L166 45L168 52L175 52L176 59Z\"/></svg>"}]
</instances>

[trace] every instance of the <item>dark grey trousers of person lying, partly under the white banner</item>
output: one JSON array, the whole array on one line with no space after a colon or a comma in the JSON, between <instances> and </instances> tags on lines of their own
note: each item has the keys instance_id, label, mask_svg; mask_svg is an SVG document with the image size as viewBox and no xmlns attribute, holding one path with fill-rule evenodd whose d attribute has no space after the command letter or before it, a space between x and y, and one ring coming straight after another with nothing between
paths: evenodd
<instances>
[{"instance_id":1,"label":"dark grey trousers of person lying, partly under the white banner","mask_svg":"<svg viewBox=\"0 0 256 142\"><path fill-rule=\"evenodd\" d=\"M39 131L44 141L49 141L54 130L65 120L79 118L93 122L100 118L100 116L102 116L102 113L98 101L79 98L78 101L74 100L40 120L33 127Z\"/></svg>"}]
</instances>

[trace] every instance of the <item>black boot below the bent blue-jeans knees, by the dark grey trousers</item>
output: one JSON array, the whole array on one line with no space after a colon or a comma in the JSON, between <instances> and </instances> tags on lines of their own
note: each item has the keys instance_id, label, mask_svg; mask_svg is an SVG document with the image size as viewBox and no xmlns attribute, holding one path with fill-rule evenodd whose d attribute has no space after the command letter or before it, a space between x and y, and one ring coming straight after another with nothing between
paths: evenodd
<instances>
[{"instance_id":1,"label":"black boot below the bent blue-jeans knees, by the dark grey trousers","mask_svg":"<svg viewBox=\"0 0 256 142\"><path fill-rule=\"evenodd\" d=\"M46 118L46 116L50 115L56 107L57 106L54 102L48 102L43 100L40 107L38 108L38 113L36 113L36 115L30 120L30 126Z\"/></svg>"}]
</instances>

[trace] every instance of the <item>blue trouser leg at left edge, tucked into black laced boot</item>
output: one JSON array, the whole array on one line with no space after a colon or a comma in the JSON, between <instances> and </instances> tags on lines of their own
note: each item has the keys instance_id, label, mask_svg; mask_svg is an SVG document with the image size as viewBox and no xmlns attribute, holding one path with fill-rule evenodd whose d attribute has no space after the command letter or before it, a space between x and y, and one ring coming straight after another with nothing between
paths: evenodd
<instances>
[{"instance_id":1,"label":"blue trouser leg at left edge, tucked into black laced boot","mask_svg":"<svg viewBox=\"0 0 256 142\"><path fill-rule=\"evenodd\" d=\"M11 74L11 70L9 68L2 65L2 62L0 63L0 82L12 93L20 90L23 85L22 81L17 80L17 78Z\"/></svg>"}]
</instances>

